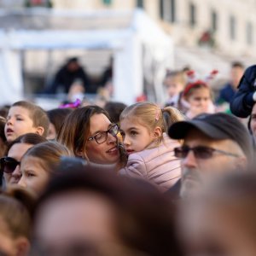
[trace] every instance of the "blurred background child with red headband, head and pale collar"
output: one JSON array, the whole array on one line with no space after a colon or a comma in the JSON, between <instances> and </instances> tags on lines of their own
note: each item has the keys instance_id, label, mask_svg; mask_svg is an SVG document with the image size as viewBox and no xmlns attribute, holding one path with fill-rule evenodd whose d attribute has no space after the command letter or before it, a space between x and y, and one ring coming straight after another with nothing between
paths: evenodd
<instances>
[{"instance_id":1,"label":"blurred background child with red headband, head and pale collar","mask_svg":"<svg viewBox=\"0 0 256 256\"><path fill-rule=\"evenodd\" d=\"M183 90L183 100L187 103L186 116L193 119L200 113L214 113L215 107L212 102L212 91L203 80L187 84ZM183 102L184 102L183 101Z\"/></svg>"}]
</instances>

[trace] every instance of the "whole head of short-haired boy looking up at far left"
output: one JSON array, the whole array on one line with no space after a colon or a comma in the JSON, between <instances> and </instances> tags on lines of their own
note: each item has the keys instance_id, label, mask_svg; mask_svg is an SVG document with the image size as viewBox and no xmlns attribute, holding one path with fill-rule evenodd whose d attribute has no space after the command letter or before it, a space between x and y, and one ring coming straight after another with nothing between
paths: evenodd
<instances>
[{"instance_id":1,"label":"whole head of short-haired boy looking up at far left","mask_svg":"<svg viewBox=\"0 0 256 256\"><path fill-rule=\"evenodd\" d=\"M26 133L37 133L46 137L48 128L49 119L42 108L31 102L20 101L9 108L4 133L10 143Z\"/></svg>"}]
</instances>

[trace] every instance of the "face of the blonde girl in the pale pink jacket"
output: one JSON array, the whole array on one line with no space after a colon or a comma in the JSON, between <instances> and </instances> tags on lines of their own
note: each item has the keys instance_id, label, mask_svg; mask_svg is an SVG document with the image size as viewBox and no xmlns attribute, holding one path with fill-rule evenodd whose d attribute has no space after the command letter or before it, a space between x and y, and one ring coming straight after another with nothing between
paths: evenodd
<instances>
[{"instance_id":1,"label":"face of the blonde girl in the pale pink jacket","mask_svg":"<svg viewBox=\"0 0 256 256\"><path fill-rule=\"evenodd\" d=\"M120 128L127 154L142 151L155 139L153 132L131 119L121 120Z\"/></svg>"}]
</instances>

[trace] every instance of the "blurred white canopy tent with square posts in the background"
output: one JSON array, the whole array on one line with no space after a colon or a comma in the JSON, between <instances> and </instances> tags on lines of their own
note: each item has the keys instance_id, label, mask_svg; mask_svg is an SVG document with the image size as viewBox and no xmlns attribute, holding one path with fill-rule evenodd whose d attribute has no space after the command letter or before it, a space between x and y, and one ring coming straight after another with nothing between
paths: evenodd
<instances>
[{"instance_id":1,"label":"blurred white canopy tent with square posts in the background","mask_svg":"<svg viewBox=\"0 0 256 256\"><path fill-rule=\"evenodd\" d=\"M142 10L133 13L125 28L0 31L1 104L24 98L20 56L26 49L111 49L113 100L126 104L143 94L144 81L152 83L155 100L161 102L163 74L173 66L172 39Z\"/></svg>"}]
</instances>

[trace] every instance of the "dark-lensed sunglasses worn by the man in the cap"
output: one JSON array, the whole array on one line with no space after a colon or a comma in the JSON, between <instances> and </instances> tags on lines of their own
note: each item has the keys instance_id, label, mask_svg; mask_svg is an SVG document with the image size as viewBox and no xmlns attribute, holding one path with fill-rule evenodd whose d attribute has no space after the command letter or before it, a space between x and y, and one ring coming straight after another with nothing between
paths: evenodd
<instances>
[{"instance_id":1,"label":"dark-lensed sunglasses worn by the man in the cap","mask_svg":"<svg viewBox=\"0 0 256 256\"><path fill-rule=\"evenodd\" d=\"M179 148L174 148L174 155L177 158L186 158L188 156L190 150L193 151L193 153L195 154L195 158L198 158L198 159L212 158L212 155L214 152L217 152L219 154L225 154L225 155L238 157L238 154L232 154L232 153L226 152L224 150L209 148L209 147L205 147L205 146L197 146L195 148L190 148L189 146L182 146Z\"/></svg>"}]
</instances>

